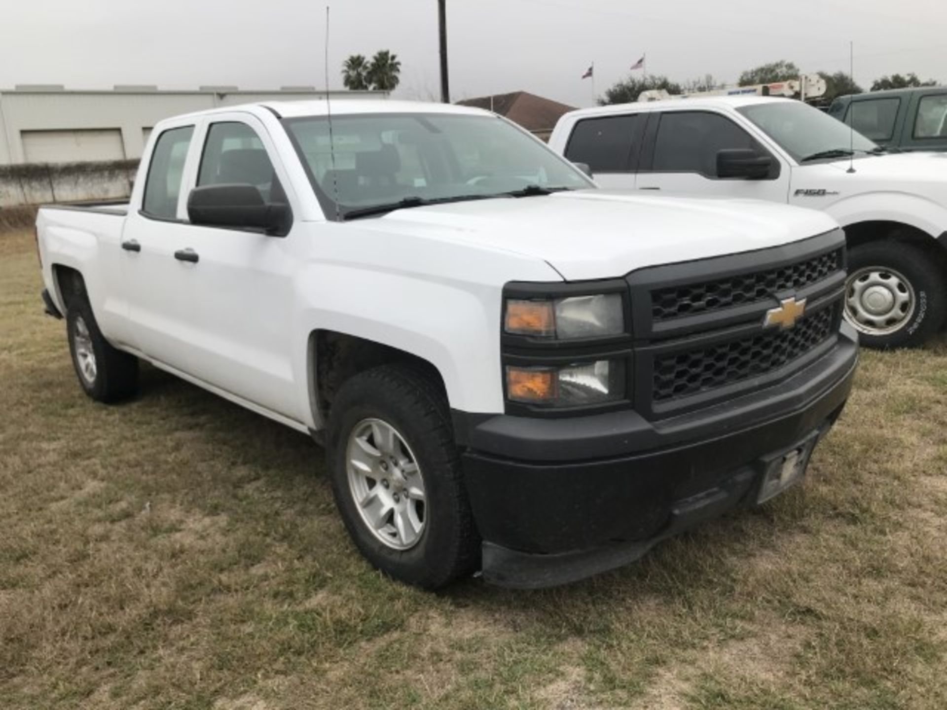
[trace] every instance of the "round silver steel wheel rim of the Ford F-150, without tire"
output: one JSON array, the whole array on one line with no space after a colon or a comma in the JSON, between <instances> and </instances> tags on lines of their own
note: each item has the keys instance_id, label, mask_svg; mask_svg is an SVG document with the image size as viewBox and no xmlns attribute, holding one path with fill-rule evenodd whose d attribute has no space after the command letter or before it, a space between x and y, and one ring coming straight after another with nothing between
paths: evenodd
<instances>
[{"instance_id":1,"label":"round silver steel wheel rim of the Ford F-150, without tire","mask_svg":"<svg viewBox=\"0 0 947 710\"><path fill-rule=\"evenodd\" d=\"M867 335L900 330L910 322L916 303L911 282L894 269L867 266L846 282L846 320Z\"/></svg>"}]
</instances>

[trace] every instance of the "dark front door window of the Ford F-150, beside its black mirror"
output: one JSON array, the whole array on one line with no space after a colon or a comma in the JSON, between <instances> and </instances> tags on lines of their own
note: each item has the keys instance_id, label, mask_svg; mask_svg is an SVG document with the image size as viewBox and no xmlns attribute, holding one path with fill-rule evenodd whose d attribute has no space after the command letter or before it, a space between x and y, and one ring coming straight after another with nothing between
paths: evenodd
<instances>
[{"instance_id":1,"label":"dark front door window of the Ford F-150, beside its black mirror","mask_svg":"<svg viewBox=\"0 0 947 710\"><path fill-rule=\"evenodd\" d=\"M654 172L697 172L717 177L717 151L765 151L753 136L723 115L675 111L661 115L654 141Z\"/></svg>"}]
</instances>

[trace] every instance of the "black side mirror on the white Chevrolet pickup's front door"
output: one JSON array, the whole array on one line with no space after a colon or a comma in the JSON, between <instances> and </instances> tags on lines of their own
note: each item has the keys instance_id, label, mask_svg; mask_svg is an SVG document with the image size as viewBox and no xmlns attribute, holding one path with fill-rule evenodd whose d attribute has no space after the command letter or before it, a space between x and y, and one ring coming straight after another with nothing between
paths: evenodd
<instances>
[{"instance_id":1,"label":"black side mirror on the white Chevrolet pickup's front door","mask_svg":"<svg viewBox=\"0 0 947 710\"><path fill-rule=\"evenodd\" d=\"M274 237L285 237L293 224L289 204L266 204L252 185L195 187L188 195L188 219L208 227L262 229Z\"/></svg>"}]
</instances>

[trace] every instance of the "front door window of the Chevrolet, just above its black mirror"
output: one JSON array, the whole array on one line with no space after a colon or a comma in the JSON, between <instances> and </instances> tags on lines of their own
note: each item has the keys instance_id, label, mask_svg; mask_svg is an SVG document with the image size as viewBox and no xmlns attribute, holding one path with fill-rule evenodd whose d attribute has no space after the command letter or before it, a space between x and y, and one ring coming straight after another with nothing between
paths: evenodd
<instances>
[{"instance_id":1,"label":"front door window of the Chevrolet, just above its black mirror","mask_svg":"<svg viewBox=\"0 0 947 710\"><path fill-rule=\"evenodd\" d=\"M267 203L285 203L273 163L259 135L245 123L211 124L197 185L252 185Z\"/></svg>"}]
</instances>

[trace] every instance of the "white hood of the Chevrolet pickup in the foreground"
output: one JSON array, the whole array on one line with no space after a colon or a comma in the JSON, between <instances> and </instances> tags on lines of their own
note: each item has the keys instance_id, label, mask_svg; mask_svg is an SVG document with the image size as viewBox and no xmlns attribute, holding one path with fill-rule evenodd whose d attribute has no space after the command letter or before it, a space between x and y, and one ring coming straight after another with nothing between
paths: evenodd
<instances>
[{"instance_id":1,"label":"white hood of the Chevrolet pickup in the foreground","mask_svg":"<svg viewBox=\"0 0 947 710\"><path fill-rule=\"evenodd\" d=\"M754 251L838 226L824 212L756 200L589 189L389 212L374 229L545 260L566 280Z\"/></svg>"}]
</instances>

